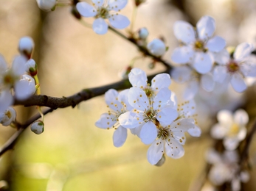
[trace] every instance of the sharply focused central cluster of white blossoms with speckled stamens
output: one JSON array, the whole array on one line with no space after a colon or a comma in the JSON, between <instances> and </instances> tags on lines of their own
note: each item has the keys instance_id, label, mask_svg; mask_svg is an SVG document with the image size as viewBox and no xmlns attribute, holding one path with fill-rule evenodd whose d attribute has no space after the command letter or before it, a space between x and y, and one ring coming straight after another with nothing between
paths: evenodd
<instances>
[{"instance_id":1,"label":"sharply focused central cluster of white blossoms with speckled stamens","mask_svg":"<svg viewBox=\"0 0 256 191\"><path fill-rule=\"evenodd\" d=\"M102 129L115 129L113 142L116 147L125 143L127 129L140 138L148 148L148 161L156 165L166 154L174 159L184 155L185 134L199 137L201 129L193 118L194 101L177 104L176 96L168 87L170 75L156 75L151 84L146 73L133 68L128 74L132 87L128 90L108 90L105 102L108 112L103 113L95 125Z\"/></svg>"}]
</instances>

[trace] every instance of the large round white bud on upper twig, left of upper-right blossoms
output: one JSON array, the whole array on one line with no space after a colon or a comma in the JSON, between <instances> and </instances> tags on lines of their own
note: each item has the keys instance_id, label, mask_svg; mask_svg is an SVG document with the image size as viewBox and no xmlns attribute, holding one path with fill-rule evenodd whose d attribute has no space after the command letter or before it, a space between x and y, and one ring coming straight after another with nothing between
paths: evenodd
<instances>
[{"instance_id":1,"label":"large round white bud on upper twig, left of upper-right blossoms","mask_svg":"<svg viewBox=\"0 0 256 191\"><path fill-rule=\"evenodd\" d=\"M151 52L156 57L161 57L162 54L165 53L166 47L165 43L160 39L154 39L150 43L148 43L148 51Z\"/></svg>"}]
</instances>

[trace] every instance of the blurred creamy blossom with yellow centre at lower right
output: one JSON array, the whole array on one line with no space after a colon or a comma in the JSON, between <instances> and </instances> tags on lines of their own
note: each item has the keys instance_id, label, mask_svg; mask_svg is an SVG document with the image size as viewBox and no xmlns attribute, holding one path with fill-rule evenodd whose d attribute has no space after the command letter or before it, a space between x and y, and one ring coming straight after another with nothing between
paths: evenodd
<instances>
[{"instance_id":1,"label":"blurred creamy blossom with yellow centre at lower right","mask_svg":"<svg viewBox=\"0 0 256 191\"><path fill-rule=\"evenodd\" d=\"M243 109L235 111L221 110L217 114L218 123L212 126L211 135L216 139L223 139L227 150L235 150L246 137L246 124L249 117Z\"/></svg>"}]
</instances>

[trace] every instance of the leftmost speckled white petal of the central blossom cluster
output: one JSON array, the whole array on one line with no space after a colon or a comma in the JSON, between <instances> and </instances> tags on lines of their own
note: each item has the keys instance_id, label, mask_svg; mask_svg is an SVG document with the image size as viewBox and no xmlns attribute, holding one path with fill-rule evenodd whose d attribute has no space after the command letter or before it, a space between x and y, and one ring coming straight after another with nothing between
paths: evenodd
<instances>
[{"instance_id":1,"label":"leftmost speckled white petal of the central blossom cluster","mask_svg":"<svg viewBox=\"0 0 256 191\"><path fill-rule=\"evenodd\" d=\"M95 126L101 129L111 129L117 123L116 116L111 113L103 113L100 119L96 121Z\"/></svg>"}]
</instances>

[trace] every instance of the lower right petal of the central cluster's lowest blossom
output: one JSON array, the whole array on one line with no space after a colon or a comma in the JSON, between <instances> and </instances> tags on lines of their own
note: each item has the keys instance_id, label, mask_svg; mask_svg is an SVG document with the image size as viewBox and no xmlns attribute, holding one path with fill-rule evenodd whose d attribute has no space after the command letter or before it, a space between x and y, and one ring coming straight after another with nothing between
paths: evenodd
<instances>
[{"instance_id":1,"label":"lower right petal of the central cluster's lowest blossom","mask_svg":"<svg viewBox=\"0 0 256 191\"><path fill-rule=\"evenodd\" d=\"M170 141L165 143L165 153L173 159L179 159L184 156L184 148L177 140L170 138Z\"/></svg>"}]
</instances>

